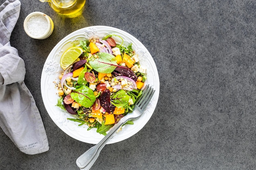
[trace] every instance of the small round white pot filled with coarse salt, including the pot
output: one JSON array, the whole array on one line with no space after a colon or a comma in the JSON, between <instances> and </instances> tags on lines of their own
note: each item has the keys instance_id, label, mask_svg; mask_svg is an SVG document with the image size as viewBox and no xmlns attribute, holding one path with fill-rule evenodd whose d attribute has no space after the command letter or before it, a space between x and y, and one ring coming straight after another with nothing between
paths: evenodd
<instances>
[{"instance_id":1,"label":"small round white pot filled with coarse salt, including the pot","mask_svg":"<svg viewBox=\"0 0 256 170\"><path fill-rule=\"evenodd\" d=\"M27 35L38 40L48 38L54 29L52 19L42 12L32 12L27 15L23 25Z\"/></svg>"}]
</instances>

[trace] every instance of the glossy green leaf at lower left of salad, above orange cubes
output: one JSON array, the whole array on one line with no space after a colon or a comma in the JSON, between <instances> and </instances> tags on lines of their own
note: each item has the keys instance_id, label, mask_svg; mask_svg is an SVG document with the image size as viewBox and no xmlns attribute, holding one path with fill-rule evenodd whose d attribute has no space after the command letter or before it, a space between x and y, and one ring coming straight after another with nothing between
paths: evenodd
<instances>
[{"instance_id":1,"label":"glossy green leaf at lower left of salad, above orange cubes","mask_svg":"<svg viewBox=\"0 0 256 170\"><path fill-rule=\"evenodd\" d=\"M70 95L72 99L85 108L90 108L96 100L92 89L85 85L76 86L76 90L73 90Z\"/></svg>"}]
</instances>

